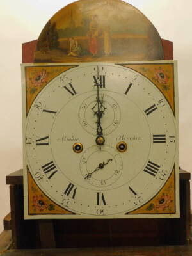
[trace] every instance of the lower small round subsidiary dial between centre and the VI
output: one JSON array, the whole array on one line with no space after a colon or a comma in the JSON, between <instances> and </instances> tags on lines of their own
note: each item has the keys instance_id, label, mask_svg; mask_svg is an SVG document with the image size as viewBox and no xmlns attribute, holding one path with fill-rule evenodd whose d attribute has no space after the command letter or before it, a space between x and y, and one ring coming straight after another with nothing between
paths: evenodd
<instances>
[{"instance_id":1,"label":"lower small round subsidiary dial between centre and the VI","mask_svg":"<svg viewBox=\"0 0 192 256\"><path fill-rule=\"evenodd\" d=\"M97 145L88 148L80 161L84 182L104 188L115 183L122 174L123 164L115 148Z\"/></svg>"}]
</instances>

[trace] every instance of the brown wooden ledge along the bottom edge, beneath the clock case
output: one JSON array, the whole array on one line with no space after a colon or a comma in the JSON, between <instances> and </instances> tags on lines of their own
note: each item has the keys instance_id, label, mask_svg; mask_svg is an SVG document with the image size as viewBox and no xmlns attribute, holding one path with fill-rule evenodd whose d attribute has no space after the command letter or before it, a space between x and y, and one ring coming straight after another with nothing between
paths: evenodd
<instances>
[{"instance_id":1,"label":"brown wooden ledge along the bottom edge, beneath the clock case","mask_svg":"<svg viewBox=\"0 0 192 256\"><path fill-rule=\"evenodd\" d=\"M192 246L8 250L1 256L191 256Z\"/></svg>"}]
</instances>

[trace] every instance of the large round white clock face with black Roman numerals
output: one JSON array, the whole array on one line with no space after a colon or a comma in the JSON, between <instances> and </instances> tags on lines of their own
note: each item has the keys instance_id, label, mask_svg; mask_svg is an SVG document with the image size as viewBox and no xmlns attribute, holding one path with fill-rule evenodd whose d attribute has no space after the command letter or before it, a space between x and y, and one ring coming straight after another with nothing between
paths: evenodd
<instances>
[{"instance_id":1,"label":"large round white clock face with black Roman numerals","mask_svg":"<svg viewBox=\"0 0 192 256\"><path fill-rule=\"evenodd\" d=\"M137 72L108 63L84 63L47 84L28 113L25 138L40 189L83 218L141 207L170 177L177 152L163 94Z\"/></svg>"}]
</instances>

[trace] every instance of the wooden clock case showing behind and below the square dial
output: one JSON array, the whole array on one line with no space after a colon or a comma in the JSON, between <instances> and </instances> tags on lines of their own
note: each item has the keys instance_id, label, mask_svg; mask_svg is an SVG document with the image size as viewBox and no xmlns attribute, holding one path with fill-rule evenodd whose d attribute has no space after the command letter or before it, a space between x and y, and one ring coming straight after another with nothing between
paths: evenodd
<instances>
[{"instance_id":1,"label":"wooden clock case showing behind and below the square dial","mask_svg":"<svg viewBox=\"0 0 192 256\"><path fill-rule=\"evenodd\" d=\"M22 63L33 63L36 42L22 44ZM162 40L164 59L173 43ZM77 248L189 244L190 173L180 170L180 218L125 220L24 220L22 170L6 177L10 185L15 248Z\"/></svg>"}]
</instances>

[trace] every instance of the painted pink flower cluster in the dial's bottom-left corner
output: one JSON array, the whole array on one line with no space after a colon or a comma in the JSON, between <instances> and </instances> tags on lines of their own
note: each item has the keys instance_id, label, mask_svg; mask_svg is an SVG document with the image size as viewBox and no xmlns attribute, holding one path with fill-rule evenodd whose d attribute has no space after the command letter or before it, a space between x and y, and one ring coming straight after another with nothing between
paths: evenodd
<instances>
[{"instance_id":1,"label":"painted pink flower cluster in the dial's bottom-left corner","mask_svg":"<svg viewBox=\"0 0 192 256\"><path fill-rule=\"evenodd\" d=\"M52 211L54 210L54 205L49 204L48 201L44 198L44 195L35 195L33 196L33 211L43 212L45 210Z\"/></svg>"}]
</instances>

